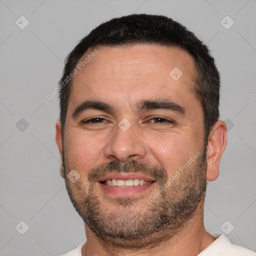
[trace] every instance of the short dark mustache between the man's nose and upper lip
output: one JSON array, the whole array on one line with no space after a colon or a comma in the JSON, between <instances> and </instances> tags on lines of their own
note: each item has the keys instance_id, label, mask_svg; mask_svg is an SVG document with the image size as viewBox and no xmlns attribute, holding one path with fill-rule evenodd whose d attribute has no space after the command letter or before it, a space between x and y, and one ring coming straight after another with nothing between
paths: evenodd
<instances>
[{"instance_id":1,"label":"short dark mustache between the man's nose and upper lip","mask_svg":"<svg viewBox=\"0 0 256 256\"><path fill-rule=\"evenodd\" d=\"M94 166L88 172L88 181L96 181L99 177L111 172L139 172L152 176L155 178L155 180L167 179L167 173L163 167L142 163L140 161L132 159L126 162L111 161L106 164Z\"/></svg>"}]
</instances>

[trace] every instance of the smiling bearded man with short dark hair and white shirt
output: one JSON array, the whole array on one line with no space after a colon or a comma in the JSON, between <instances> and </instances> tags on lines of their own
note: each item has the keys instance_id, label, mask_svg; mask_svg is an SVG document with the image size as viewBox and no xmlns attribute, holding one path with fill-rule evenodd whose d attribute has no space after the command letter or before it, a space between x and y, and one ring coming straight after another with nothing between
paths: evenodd
<instances>
[{"instance_id":1,"label":"smiling bearded man with short dark hair and white shirt","mask_svg":"<svg viewBox=\"0 0 256 256\"><path fill-rule=\"evenodd\" d=\"M65 255L254 255L203 225L226 145L219 74L181 24L133 14L67 56L56 142L86 242Z\"/></svg>"}]
</instances>

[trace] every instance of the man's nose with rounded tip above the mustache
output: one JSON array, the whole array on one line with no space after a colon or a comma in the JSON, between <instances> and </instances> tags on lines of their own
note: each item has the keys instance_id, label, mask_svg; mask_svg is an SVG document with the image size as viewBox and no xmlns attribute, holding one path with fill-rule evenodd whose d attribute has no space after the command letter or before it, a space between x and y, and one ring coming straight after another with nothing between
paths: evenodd
<instances>
[{"instance_id":1,"label":"man's nose with rounded tip above the mustache","mask_svg":"<svg viewBox=\"0 0 256 256\"><path fill-rule=\"evenodd\" d=\"M114 161L137 160L145 157L146 145L139 139L138 132L131 127L123 131L116 127L114 134L104 148L106 158Z\"/></svg>"}]
</instances>

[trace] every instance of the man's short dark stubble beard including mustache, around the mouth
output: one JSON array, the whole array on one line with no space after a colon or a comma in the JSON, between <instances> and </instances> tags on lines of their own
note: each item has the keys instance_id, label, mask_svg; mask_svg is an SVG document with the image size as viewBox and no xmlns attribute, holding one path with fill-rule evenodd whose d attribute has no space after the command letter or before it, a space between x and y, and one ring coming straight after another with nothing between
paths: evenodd
<instances>
[{"instance_id":1,"label":"man's short dark stubble beard including mustache, around the mouth","mask_svg":"<svg viewBox=\"0 0 256 256\"><path fill-rule=\"evenodd\" d=\"M130 197L115 198L114 201L111 200L111 207L116 205L116 208L111 210L107 200L100 200L96 194L96 178L112 171L149 174L158 182L155 192L166 185L168 176L164 168L136 160L95 166L88 172L86 192L81 179L75 183L67 179L66 173L72 167L68 166L69 161L63 158L66 189L74 208L102 244L127 249L150 247L175 236L194 216L205 195L205 158L204 151L153 202L150 202L148 197L142 200Z\"/></svg>"}]
</instances>

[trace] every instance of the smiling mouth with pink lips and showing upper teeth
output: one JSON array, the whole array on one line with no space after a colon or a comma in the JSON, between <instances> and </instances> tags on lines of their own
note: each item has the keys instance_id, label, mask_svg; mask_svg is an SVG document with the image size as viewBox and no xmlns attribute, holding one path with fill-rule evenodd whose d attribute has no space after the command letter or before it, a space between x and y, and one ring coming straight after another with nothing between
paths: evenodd
<instances>
[{"instance_id":1,"label":"smiling mouth with pink lips and showing upper teeth","mask_svg":"<svg viewBox=\"0 0 256 256\"><path fill-rule=\"evenodd\" d=\"M98 180L104 193L115 197L132 196L146 191L155 179L138 173L109 173Z\"/></svg>"}]
</instances>

